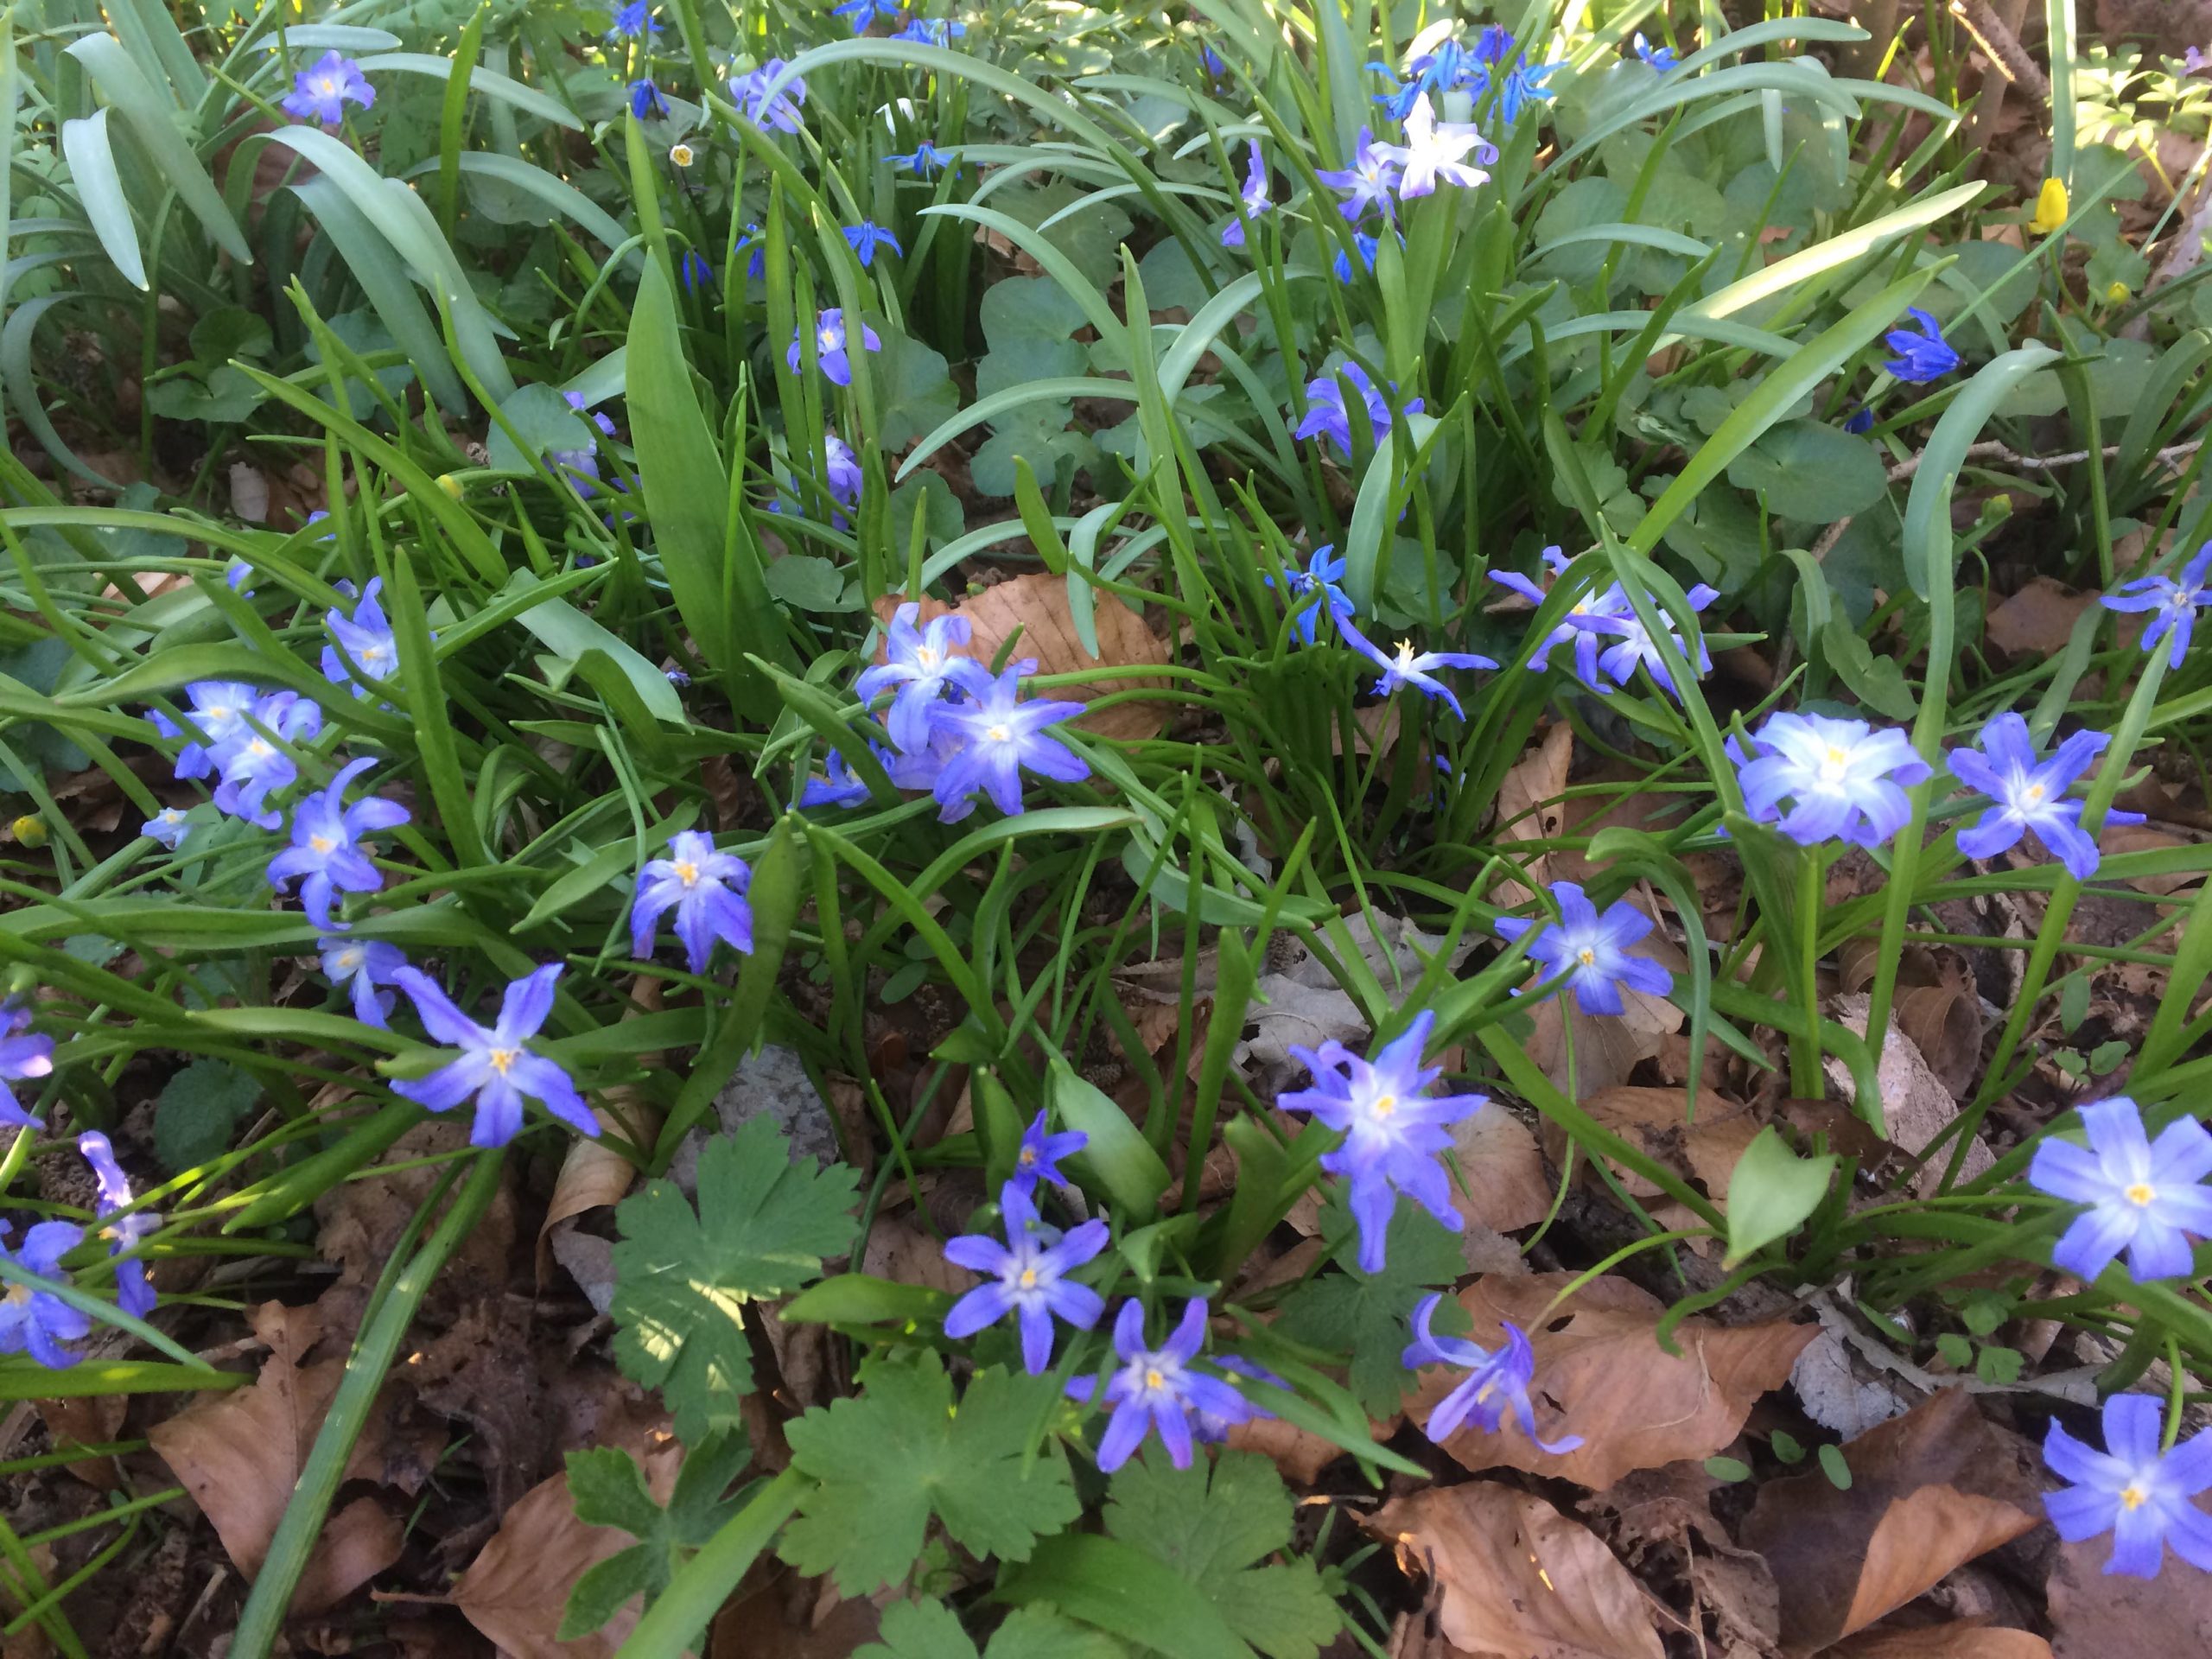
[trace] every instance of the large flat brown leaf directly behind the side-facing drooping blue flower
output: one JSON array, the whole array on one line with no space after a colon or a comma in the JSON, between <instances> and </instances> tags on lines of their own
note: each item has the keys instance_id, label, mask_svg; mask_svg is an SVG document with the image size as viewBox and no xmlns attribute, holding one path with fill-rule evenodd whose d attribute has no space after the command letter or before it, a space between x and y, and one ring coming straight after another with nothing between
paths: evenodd
<instances>
[{"instance_id":1,"label":"large flat brown leaf directly behind the side-facing drooping blue flower","mask_svg":"<svg viewBox=\"0 0 2212 1659\"><path fill-rule=\"evenodd\" d=\"M1553 1455L1511 1418L1498 1433L1462 1429L1444 1451L1467 1469L1524 1469L1604 1491L1630 1469L1710 1458L1736 1438L1752 1402L1787 1380L1798 1349L1820 1329L1686 1318L1674 1327L1677 1358L1655 1336L1666 1303L1626 1279L1597 1279L1546 1316L1571 1281L1573 1274L1484 1274L1460 1292L1482 1347L1500 1343L1502 1321L1528 1334L1537 1433L1582 1436L1575 1451ZM1425 1422L1455 1383L1458 1374L1442 1367L1422 1371L1411 1416Z\"/></svg>"}]
</instances>

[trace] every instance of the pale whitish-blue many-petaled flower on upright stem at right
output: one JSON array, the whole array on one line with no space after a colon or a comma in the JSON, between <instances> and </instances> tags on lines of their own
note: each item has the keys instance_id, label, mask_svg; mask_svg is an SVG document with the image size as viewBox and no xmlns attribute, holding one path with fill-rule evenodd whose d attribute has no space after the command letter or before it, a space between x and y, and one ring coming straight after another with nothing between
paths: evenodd
<instances>
[{"instance_id":1,"label":"pale whitish-blue many-petaled flower on upright stem at right","mask_svg":"<svg viewBox=\"0 0 2212 1659\"><path fill-rule=\"evenodd\" d=\"M1905 790L1929 779L1929 763L1905 732L1827 714L1770 714L1752 734L1752 754L1741 759L1739 750L1745 812L1801 847L1880 847L1911 823ZM1781 812L1783 801L1790 812Z\"/></svg>"}]
</instances>

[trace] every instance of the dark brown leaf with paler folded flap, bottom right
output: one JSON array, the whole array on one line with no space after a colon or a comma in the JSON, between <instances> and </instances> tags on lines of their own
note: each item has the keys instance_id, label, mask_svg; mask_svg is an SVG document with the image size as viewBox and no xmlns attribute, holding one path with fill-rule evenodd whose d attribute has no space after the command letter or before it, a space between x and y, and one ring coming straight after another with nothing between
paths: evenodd
<instances>
[{"instance_id":1,"label":"dark brown leaf with paler folded flap, bottom right","mask_svg":"<svg viewBox=\"0 0 2212 1659\"><path fill-rule=\"evenodd\" d=\"M1863 1630L2042 1520L2039 1482L1964 1389L1869 1429L1843 1455L1849 1491L1818 1471L1770 1480L1743 1524L1783 1586L1792 1648Z\"/></svg>"}]
</instances>

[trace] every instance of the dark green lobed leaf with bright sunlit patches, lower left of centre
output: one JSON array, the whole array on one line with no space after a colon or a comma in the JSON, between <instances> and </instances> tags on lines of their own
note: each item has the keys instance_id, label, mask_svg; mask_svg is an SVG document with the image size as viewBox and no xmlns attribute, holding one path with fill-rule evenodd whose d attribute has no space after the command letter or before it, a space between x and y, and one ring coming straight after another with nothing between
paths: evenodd
<instances>
[{"instance_id":1,"label":"dark green lobed leaf with bright sunlit patches, lower left of centre","mask_svg":"<svg viewBox=\"0 0 2212 1659\"><path fill-rule=\"evenodd\" d=\"M653 1181L615 1208L615 1363L661 1398L677 1436L699 1444L739 1422L752 1387L748 1301L821 1276L852 1243L858 1177L792 1161L768 1117L714 1135L699 1155L699 1210L675 1181Z\"/></svg>"}]
</instances>

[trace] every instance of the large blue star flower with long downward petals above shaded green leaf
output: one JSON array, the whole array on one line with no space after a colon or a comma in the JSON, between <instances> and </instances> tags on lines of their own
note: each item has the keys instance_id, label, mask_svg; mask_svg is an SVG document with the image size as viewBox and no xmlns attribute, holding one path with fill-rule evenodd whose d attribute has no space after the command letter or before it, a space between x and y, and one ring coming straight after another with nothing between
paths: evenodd
<instances>
[{"instance_id":1,"label":"large blue star flower with long downward petals above shaded green leaf","mask_svg":"<svg viewBox=\"0 0 2212 1659\"><path fill-rule=\"evenodd\" d=\"M1321 1157L1321 1168L1349 1181L1360 1272L1383 1272L1385 1237L1400 1192L1453 1232L1464 1225L1451 1208L1451 1179L1436 1157L1451 1150L1444 1126L1473 1117L1489 1097L1427 1093L1444 1075L1442 1066L1420 1064L1433 1029L1436 1015L1422 1011L1374 1060L1360 1060L1334 1037L1321 1048L1290 1048L1290 1057L1314 1075L1314 1086L1279 1095L1274 1104L1285 1113L1312 1113L1345 1137Z\"/></svg>"}]
</instances>

